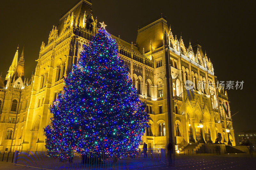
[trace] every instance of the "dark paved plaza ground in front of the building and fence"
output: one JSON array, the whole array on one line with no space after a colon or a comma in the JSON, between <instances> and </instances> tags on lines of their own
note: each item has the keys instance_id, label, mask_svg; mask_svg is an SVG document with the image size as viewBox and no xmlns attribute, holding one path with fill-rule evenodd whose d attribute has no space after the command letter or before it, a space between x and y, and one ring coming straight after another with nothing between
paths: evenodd
<instances>
[{"instance_id":1,"label":"dark paved plaza ground in front of the building and fence","mask_svg":"<svg viewBox=\"0 0 256 170\"><path fill-rule=\"evenodd\" d=\"M222 155L178 155L175 157L175 166L154 166L139 168L145 170L200 170L200 169L255 169L256 155L249 154L222 154ZM9 162L0 162L0 169L10 170L36 170L38 168L26 168L12 166Z\"/></svg>"}]
</instances>

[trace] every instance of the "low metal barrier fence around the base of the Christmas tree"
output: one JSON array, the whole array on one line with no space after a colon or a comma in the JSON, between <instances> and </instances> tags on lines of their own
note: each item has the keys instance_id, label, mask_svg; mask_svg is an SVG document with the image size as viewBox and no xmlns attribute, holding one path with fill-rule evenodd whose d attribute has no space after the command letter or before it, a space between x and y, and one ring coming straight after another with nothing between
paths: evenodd
<instances>
[{"instance_id":1,"label":"low metal barrier fence around the base of the Christmas tree","mask_svg":"<svg viewBox=\"0 0 256 170\"><path fill-rule=\"evenodd\" d=\"M49 170L62 169L137 169L164 165L164 149L123 152L43 152L15 151L15 165Z\"/></svg>"}]
</instances>

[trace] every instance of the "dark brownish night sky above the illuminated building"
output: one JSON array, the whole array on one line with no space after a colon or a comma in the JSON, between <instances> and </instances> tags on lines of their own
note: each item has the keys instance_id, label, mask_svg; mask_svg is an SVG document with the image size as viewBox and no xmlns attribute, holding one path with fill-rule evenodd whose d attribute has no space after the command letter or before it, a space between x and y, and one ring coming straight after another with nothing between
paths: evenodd
<instances>
[{"instance_id":1,"label":"dark brownish night sky above the illuminated building","mask_svg":"<svg viewBox=\"0 0 256 170\"><path fill-rule=\"evenodd\" d=\"M2 0L0 7L0 59L2 77L6 76L18 44L25 43L25 77L35 71L42 41L48 41L52 26L61 13L77 1ZM255 128L255 1L106 1L92 0L98 21L115 35L136 41L138 26L163 13L173 35L182 33L185 46L201 42L220 81L244 81L243 90L228 90L234 129ZM20 56L20 55L19 55Z\"/></svg>"}]
</instances>

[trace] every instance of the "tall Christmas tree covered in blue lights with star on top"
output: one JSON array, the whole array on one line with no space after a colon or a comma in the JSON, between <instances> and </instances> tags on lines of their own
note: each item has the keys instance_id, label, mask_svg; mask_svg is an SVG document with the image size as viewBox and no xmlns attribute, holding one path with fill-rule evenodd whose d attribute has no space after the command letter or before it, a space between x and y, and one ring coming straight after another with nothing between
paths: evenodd
<instances>
[{"instance_id":1,"label":"tall Christmas tree covered in blue lights with star on top","mask_svg":"<svg viewBox=\"0 0 256 170\"><path fill-rule=\"evenodd\" d=\"M51 123L44 128L49 151L134 150L148 126L145 104L105 26L84 46L50 107Z\"/></svg>"}]
</instances>

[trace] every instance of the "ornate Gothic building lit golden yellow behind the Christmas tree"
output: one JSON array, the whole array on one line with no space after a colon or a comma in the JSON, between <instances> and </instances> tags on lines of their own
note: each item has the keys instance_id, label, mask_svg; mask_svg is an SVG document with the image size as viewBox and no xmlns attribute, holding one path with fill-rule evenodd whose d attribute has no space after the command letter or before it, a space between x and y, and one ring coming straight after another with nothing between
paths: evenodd
<instances>
[{"instance_id":1,"label":"ornate Gothic building lit golden yellow behind the Christmas tree","mask_svg":"<svg viewBox=\"0 0 256 170\"><path fill-rule=\"evenodd\" d=\"M91 1L75 4L53 26L48 42L42 42L31 78L24 77L24 48L20 57L17 49L6 78L0 79L0 151L45 150L49 105L57 100L63 78L99 27ZM179 147L214 142L217 133L222 143L227 144L229 135L235 145L230 109L226 116L221 106L228 101L227 92L216 86L213 65L199 43L185 47L164 16L139 27L135 43L112 37L140 100L146 101L150 120L142 141L149 148L165 148L169 137ZM187 96L186 80L194 83L194 100Z\"/></svg>"}]
</instances>

